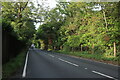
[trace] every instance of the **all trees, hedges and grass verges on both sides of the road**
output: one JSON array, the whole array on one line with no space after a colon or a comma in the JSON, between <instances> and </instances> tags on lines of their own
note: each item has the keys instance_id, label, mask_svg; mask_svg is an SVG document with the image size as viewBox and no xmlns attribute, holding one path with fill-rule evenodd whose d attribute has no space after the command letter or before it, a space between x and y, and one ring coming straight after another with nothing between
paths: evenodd
<instances>
[{"instance_id":1,"label":"all trees, hedges and grass verges on both sides of the road","mask_svg":"<svg viewBox=\"0 0 120 80\"><path fill-rule=\"evenodd\" d=\"M48 51L96 60L119 60L120 2L58 1L52 9L44 4L35 7L29 0L0 4L5 77L22 65L25 54L20 52L32 43ZM41 24L37 30L36 23Z\"/></svg>"}]
</instances>

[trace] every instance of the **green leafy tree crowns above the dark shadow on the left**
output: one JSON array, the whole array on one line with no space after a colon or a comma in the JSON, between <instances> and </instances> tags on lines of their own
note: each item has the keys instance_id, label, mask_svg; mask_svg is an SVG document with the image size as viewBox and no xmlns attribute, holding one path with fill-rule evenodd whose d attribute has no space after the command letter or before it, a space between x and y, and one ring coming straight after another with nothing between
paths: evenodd
<instances>
[{"instance_id":1,"label":"green leafy tree crowns above the dark shadow on the left","mask_svg":"<svg viewBox=\"0 0 120 80\"><path fill-rule=\"evenodd\" d=\"M33 6L28 6L28 2L2 2L3 31L16 36L18 40L29 43L35 33L31 18L32 8Z\"/></svg>"}]
</instances>

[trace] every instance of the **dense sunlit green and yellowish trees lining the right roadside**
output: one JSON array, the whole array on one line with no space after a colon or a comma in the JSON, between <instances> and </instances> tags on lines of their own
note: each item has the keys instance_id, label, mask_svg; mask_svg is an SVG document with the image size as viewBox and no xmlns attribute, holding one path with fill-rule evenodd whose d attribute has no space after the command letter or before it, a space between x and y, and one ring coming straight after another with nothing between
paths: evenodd
<instances>
[{"instance_id":1,"label":"dense sunlit green and yellowish trees lining the right roadside","mask_svg":"<svg viewBox=\"0 0 120 80\"><path fill-rule=\"evenodd\" d=\"M36 39L42 49L118 56L119 5L120 2L60 2L47 12Z\"/></svg>"}]
</instances>

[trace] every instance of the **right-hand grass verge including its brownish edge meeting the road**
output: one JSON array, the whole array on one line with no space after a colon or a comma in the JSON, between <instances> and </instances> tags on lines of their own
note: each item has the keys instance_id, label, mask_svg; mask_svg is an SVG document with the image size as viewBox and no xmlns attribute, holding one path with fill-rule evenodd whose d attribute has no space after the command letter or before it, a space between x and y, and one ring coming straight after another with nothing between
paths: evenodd
<instances>
[{"instance_id":1,"label":"right-hand grass verge including its brownish edge meeting the road","mask_svg":"<svg viewBox=\"0 0 120 80\"><path fill-rule=\"evenodd\" d=\"M76 56L76 57L82 57L82 58L87 58L87 59L92 59L95 61L100 61L100 62L105 62L105 63L110 63L114 65L119 65L119 57L113 57L113 56L105 56L104 54L90 54L88 52L67 52L67 51L54 51L62 54L67 54L71 56Z\"/></svg>"}]
</instances>

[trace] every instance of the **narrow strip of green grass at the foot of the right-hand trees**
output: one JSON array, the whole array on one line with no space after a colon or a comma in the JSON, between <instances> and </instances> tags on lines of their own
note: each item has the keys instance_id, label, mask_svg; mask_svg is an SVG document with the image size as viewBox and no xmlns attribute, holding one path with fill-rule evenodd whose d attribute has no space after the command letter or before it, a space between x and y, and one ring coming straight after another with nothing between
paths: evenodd
<instances>
[{"instance_id":1,"label":"narrow strip of green grass at the foot of the right-hand trees","mask_svg":"<svg viewBox=\"0 0 120 80\"><path fill-rule=\"evenodd\" d=\"M68 54L88 59L103 60L103 61L118 61L119 57L105 56L104 54L90 54L87 51L84 52L67 52L67 51L55 51L62 54Z\"/></svg>"}]
</instances>

